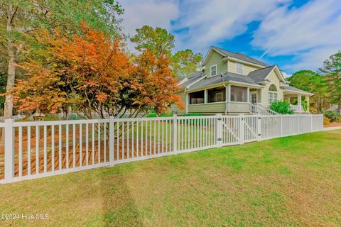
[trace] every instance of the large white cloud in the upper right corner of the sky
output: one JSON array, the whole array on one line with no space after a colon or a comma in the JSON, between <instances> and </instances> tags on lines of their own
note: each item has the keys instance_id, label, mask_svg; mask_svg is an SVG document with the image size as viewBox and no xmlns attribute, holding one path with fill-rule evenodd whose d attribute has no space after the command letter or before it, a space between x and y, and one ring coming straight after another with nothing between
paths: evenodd
<instances>
[{"instance_id":1,"label":"large white cloud in the upper right corner of the sky","mask_svg":"<svg viewBox=\"0 0 341 227\"><path fill-rule=\"evenodd\" d=\"M254 33L252 45L266 55L296 55L287 70L316 70L323 60L341 48L340 0L316 0L269 13Z\"/></svg>"}]
</instances>

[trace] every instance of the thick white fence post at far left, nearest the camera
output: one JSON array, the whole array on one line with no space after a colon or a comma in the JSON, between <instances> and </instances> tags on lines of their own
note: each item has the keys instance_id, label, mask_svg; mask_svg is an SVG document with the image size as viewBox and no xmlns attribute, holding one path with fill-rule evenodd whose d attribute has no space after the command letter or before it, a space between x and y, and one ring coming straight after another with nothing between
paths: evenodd
<instances>
[{"instance_id":1,"label":"thick white fence post at far left, nearest the camera","mask_svg":"<svg viewBox=\"0 0 341 227\"><path fill-rule=\"evenodd\" d=\"M5 120L5 182L13 182L14 153L13 153L13 119Z\"/></svg>"}]
</instances>

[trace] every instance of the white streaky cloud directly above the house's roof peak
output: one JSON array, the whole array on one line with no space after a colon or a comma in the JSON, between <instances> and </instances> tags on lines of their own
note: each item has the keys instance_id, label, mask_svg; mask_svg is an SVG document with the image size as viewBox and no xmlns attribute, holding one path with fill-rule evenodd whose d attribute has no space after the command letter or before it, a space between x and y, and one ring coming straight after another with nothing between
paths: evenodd
<instances>
[{"instance_id":1,"label":"white streaky cloud directly above the house's roof peak","mask_svg":"<svg viewBox=\"0 0 341 227\"><path fill-rule=\"evenodd\" d=\"M247 30L247 24L258 21L288 0L188 0L181 5L180 20L175 29L188 28L180 40L194 49L233 38Z\"/></svg>"}]
</instances>

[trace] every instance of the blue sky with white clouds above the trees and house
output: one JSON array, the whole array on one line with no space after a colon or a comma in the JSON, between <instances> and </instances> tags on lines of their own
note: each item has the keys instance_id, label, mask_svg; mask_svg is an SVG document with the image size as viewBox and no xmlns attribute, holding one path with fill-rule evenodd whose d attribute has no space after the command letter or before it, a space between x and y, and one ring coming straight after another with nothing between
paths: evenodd
<instances>
[{"instance_id":1,"label":"blue sky with white clouds above the trees and house","mask_svg":"<svg viewBox=\"0 0 341 227\"><path fill-rule=\"evenodd\" d=\"M341 50L340 0L121 0L125 33L144 24L175 35L175 50L211 45L242 52L287 74L317 70Z\"/></svg>"}]
</instances>

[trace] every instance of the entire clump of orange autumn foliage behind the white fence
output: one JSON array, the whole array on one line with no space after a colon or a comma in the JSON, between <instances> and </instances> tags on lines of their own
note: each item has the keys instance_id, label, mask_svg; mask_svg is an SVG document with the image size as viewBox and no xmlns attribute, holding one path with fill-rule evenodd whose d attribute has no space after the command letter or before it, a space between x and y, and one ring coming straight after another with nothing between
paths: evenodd
<instances>
[{"instance_id":1,"label":"entire clump of orange autumn foliage behind the white fence","mask_svg":"<svg viewBox=\"0 0 341 227\"><path fill-rule=\"evenodd\" d=\"M20 111L56 113L72 106L77 113L136 117L140 113L167 111L180 104L174 92L170 60L158 60L145 51L130 62L121 40L83 25L83 35L72 38L55 31L38 37L43 57L21 65L28 79L13 91Z\"/></svg>"}]
</instances>

